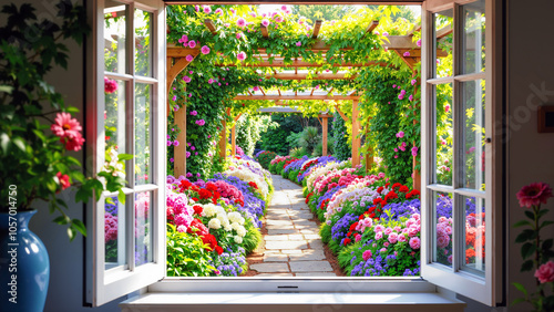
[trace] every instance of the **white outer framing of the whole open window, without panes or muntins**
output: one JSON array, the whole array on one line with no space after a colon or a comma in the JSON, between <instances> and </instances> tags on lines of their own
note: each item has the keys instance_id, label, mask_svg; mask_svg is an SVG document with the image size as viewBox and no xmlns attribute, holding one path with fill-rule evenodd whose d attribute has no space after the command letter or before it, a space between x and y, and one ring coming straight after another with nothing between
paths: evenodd
<instances>
[{"instance_id":1,"label":"white outer framing of the whole open window, without panes or muntins","mask_svg":"<svg viewBox=\"0 0 554 312\"><path fill-rule=\"evenodd\" d=\"M141 7L145 3L147 7L157 8L155 19L156 23L154 25L155 32L158 39L165 38L165 9L162 0L119 0L120 2L137 4ZM453 6L448 3L449 0L428 0L423 2L422 6L422 42L425 44L422 46L422 103L427 103L430 97L430 89L427 86L425 80L430 76L430 55L433 30L431 24L429 24L432 14L429 12L434 3L440 3L443 6ZM452 0L453 2L454 0ZM471 0L455 0L458 2L471 2ZM186 1L191 3L191 1ZM233 2L233 1L229 1ZM239 1L236 1L239 2ZM276 1L277 2L277 1ZM497 12L497 7L500 0L486 0L486 103L489 116L494 116L494 125L501 124L501 105L500 101L495 101L494 96L501 93L499 90L491 90L492 82L499 85L502 81L502 75L499 74L500 61L492 62L492 55L499 54L499 49L495 48L496 38L493 37L493 23L497 27L497 20L495 20L494 14ZM206 1L198 1L199 4L207 3ZM295 1L291 2L295 4ZM88 73L90 74L93 90L92 94L88 95L86 105L86 116L88 116L88 155L89 159L92 159L92 168L94 173L99 170L104 162L104 145L103 141L98 141L96 137L103 138L103 126L99 122L103 121L103 108L104 108L104 94L103 94L103 75L104 75L104 63L103 63L103 7L104 0L90 1L88 4L88 10L90 12L95 12L92 18L91 24L93 25L93 32L89 43L91 45L92 58L88 58ZM444 6L443 6L444 7ZM442 8L441 8L442 9ZM440 11L438 8L433 8L434 11ZM150 10L148 10L150 11ZM499 19L500 20L500 19ZM493 42L494 40L494 42ZM157 108L157 112L153 115L153 119L158 121L156 129L153 134L153 144L156 149L157 162L153 162L153 167L157 170L157 183L165 184L165 164L162 164L161 159L166 159L166 148L164 144L160 144L158 137L165 137L166 135L166 90L165 90L165 52L166 42L165 40L154 41L153 43L153 70L157 74L157 93L154 92L153 103L157 105L152 105L153 108ZM499 44L500 46L500 44ZM100 53L100 54L99 54ZM157 55L156 55L157 53ZM494 93L493 93L494 92ZM155 102L157 101L157 102ZM494 103L494 106L492 105ZM491 104L491 105L489 105ZM492 111L492 112L491 112ZM430 139L429 129L429 107L428 105L422 105L422 157L421 159L428 159L429 148L432 141ZM502 184L500 181L502 170L501 162L495 162L501 159L501 132L494 132L501 129L501 127L492 128L491 118L488 119L486 124L486 136L493 137L492 148L488 147L488 164L493 164L490 166L489 170L492 171L486 174L486 185L488 185L488 198L486 198L486 254L502 254L501 245L501 230L502 221L499 219L502 216L501 212L501 201L502 196ZM425 126L427 125L427 126ZM492 133L491 133L492 132ZM434 139L434 137L432 138ZM430 183L429 166L425 162L422 162L422 181L423 186ZM425 184L427 183L427 184ZM422 206L428 207L428 195L427 191L422 191ZM158 207L165 207L165 187L158 188L158 197L156 202ZM163 201L163 202L162 202ZM102 202L102 201L101 201ZM443 287L445 289L452 290L456 293L468 295L478 301L484 302L489 305L495 305L495 302L501 301L500 288L494 288L495 284L500 284L499 273L501 273L501 257L486 257L486 278L484 281L480 279L474 279L471 274L466 272L448 272L443 268L437 268L435 264L430 262L432 259L430 253L430 238L431 231L430 226L430 211L428 209L422 210L422 277L421 278L367 278L367 279L353 279L353 278L310 278L310 279L298 279L298 278L278 278L278 279L257 279L257 278L187 278L187 279L175 279L165 278L165 214L163 209L157 209L154 221L158 226L160 231L154 232L154 259L157 260L156 263L152 266L141 266L134 271L121 271L116 274L107 274L104 271L104 254L103 254L103 202L102 205L90 205L90 212L88 215L88 226L90 235L88 238L88 259L91 259L89 263L88 281L89 288L86 292L86 300L92 302L94 306L101 305L105 302L125 295L137 289L147 287L148 292L334 292L338 293L359 293L359 292L434 292L435 285ZM94 227L92 227L94 225ZM489 227L490 226L490 227ZM100 230L96 230L100 229ZM423 230L427 229L427 230ZM94 243L96 242L96 243ZM162 281L161 281L162 280ZM285 288L284 288L285 287Z\"/></svg>"}]
</instances>

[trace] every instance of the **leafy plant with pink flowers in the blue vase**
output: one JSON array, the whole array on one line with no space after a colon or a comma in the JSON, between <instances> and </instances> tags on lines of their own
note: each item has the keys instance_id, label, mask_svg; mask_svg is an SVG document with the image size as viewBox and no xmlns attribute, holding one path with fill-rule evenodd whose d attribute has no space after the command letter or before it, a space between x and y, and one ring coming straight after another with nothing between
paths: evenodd
<instances>
[{"instance_id":1,"label":"leafy plant with pink flowers in the blue vase","mask_svg":"<svg viewBox=\"0 0 554 312\"><path fill-rule=\"evenodd\" d=\"M81 43L89 32L85 10L70 1L58 6L59 24L43 27L30 4L4 6L10 14L0 28L0 196L17 198L18 210L32 210L35 200L48 201L51 212L60 214L53 221L69 226L68 235L86 235L81 220L71 219L68 208L71 186L76 188L75 201L88 202L102 190L119 191L124 185L115 168L106 168L98 177L86 177L79 154L85 143L83 127L74 117L79 110L69 106L63 95L47 80L54 66L66 69L68 49L59 42L71 39ZM18 21L18 22L14 22ZM31 34L31 35L30 35ZM49 39L49 40L44 40ZM14 40L11 42L10 40ZM106 93L116 84L105 81ZM113 169L113 170L111 170ZM7 212L10 206L2 206ZM113 220L106 220L112 225ZM110 236L107 237L110 238Z\"/></svg>"}]
</instances>

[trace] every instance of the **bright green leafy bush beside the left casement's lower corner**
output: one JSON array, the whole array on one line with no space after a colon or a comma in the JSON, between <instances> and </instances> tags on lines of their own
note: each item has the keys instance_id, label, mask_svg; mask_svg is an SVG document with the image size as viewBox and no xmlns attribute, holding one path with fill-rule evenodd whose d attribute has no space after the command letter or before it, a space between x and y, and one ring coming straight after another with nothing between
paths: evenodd
<instances>
[{"instance_id":1,"label":"bright green leafy bush beside the left casement's lower corner","mask_svg":"<svg viewBox=\"0 0 554 312\"><path fill-rule=\"evenodd\" d=\"M216 269L202 239L167 225L167 277L209 277Z\"/></svg>"}]
</instances>

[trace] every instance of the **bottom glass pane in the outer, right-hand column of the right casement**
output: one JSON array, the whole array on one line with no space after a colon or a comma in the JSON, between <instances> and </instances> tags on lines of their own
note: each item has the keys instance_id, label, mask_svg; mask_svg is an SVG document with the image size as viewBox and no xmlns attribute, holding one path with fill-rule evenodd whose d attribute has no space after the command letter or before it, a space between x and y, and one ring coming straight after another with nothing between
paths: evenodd
<instances>
[{"instance_id":1,"label":"bottom glass pane in the outer, right-hand column of the right casement","mask_svg":"<svg viewBox=\"0 0 554 312\"><path fill-rule=\"evenodd\" d=\"M462 268L484 275L485 270L485 206L483 198L462 196L465 210L465 260Z\"/></svg>"}]
</instances>

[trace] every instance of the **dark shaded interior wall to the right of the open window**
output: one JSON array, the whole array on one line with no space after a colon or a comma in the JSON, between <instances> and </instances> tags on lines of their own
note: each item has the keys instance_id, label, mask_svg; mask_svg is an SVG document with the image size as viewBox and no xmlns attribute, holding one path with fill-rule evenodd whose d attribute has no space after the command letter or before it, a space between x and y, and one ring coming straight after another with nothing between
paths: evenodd
<instances>
[{"instance_id":1,"label":"dark shaded interior wall to the right of the open window","mask_svg":"<svg viewBox=\"0 0 554 312\"><path fill-rule=\"evenodd\" d=\"M507 150L509 193L507 216L513 225L524 218L515 194L521 187L535 181L554 187L554 133L537 132L537 105L554 105L554 38L552 29L554 1L509 1L509 79L507 79ZM554 219L554 198L547 205ZM512 282L523 282L527 290L535 289L534 271L521 273L521 245L514 245L521 228L509 228L507 258L509 302L521 297ZM543 230L554 238L554 227ZM510 311L530 311L531 306L516 305Z\"/></svg>"}]
</instances>

